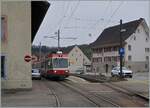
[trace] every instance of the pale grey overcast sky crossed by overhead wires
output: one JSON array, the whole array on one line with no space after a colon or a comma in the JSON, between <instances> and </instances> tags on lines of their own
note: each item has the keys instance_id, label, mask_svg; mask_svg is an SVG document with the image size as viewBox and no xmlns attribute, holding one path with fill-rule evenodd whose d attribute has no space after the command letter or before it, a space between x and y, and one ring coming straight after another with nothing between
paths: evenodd
<instances>
[{"instance_id":1,"label":"pale grey overcast sky crossed by overhead wires","mask_svg":"<svg viewBox=\"0 0 150 108\"><path fill-rule=\"evenodd\" d=\"M56 36L60 29L61 46L89 44L109 26L144 18L149 25L149 1L49 1L50 7L33 41L34 45L57 47Z\"/></svg>"}]
</instances>

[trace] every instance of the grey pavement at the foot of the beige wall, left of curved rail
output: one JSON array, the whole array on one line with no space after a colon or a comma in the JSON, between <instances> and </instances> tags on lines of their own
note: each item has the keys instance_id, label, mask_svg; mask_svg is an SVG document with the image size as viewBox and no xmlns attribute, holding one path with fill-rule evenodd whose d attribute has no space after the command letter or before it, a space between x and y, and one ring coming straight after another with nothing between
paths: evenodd
<instances>
[{"instance_id":1,"label":"grey pavement at the foot of the beige wall, left of curved rail","mask_svg":"<svg viewBox=\"0 0 150 108\"><path fill-rule=\"evenodd\" d=\"M42 81L33 81L32 90L2 91L2 107L50 107L55 106L55 98Z\"/></svg>"}]
</instances>

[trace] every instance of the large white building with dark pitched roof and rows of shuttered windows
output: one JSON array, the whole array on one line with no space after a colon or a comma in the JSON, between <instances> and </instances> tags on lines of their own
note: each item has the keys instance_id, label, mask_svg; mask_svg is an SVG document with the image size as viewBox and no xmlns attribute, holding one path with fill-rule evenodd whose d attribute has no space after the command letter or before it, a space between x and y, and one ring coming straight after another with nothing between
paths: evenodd
<instances>
[{"instance_id":1,"label":"large white building with dark pitched roof and rows of shuttered windows","mask_svg":"<svg viewBox=\"0 0 150 108\"><path fill-rule=\"evenodd\" d=\"M108 72L120 64L120 25L106 28L98 39L91 44L93 72ZM123 64L134 72L149 71L150 37L149 28L143 18L122 25L123 47L125 55Z\"/></svg>"}]
</instances>

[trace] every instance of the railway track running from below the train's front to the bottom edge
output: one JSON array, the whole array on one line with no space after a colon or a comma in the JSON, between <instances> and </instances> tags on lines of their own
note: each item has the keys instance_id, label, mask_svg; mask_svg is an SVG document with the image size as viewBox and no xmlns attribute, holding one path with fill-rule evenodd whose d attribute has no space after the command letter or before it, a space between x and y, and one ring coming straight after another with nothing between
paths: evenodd
<instances>
[{"instance_id":1,"label":"railway track running from below the train's front to the bottom edge","mask_svg":"<svg viewBox=\"0 0 150 108\"><path fill-rule=\"evenodd\" d=\"M68 82L59 82L59 83L73 90L74 92L77 92L78 94L82 95L83 97L94 103L97 107L120 107L120 105L112 102L109 98L98 96L87 90L83 90L83 88L79 86L70 84Z\"/></svg>"}]
</instances>

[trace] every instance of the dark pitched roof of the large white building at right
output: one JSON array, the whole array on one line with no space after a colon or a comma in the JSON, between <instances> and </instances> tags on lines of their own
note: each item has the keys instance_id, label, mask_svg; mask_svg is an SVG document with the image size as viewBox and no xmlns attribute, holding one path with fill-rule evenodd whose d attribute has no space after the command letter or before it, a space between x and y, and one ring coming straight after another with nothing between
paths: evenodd
<instances>
[{"instance_id":1,"label":"dark pitched roof of the large white building at right","mask_svg":"<svg viewBox=\"0 0 150 108\"><path fill-rule=\"evenodd\" d=\"M129 36L131 36L139 24L143 21L143 18L127 22L122 24L122 29L125 29L125 32L122 32L122 39L125 41ZM115 25L104 29L101 35L97 38L95 42L91 45L92 48L100 46L109 46L109 45L119 45L120 42L120 25Z\"/></svg>"}]
</instances>

